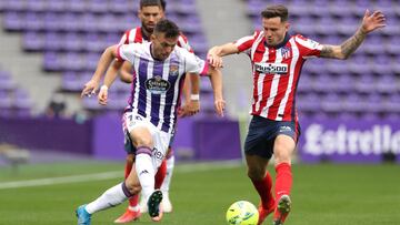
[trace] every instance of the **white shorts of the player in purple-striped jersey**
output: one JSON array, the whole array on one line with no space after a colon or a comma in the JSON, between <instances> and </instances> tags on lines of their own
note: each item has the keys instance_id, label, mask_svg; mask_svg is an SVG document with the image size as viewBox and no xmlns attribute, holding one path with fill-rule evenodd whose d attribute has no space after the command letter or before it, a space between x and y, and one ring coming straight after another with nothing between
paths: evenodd
<instances>
[{"instance_id":1,"label":"white shorts of the player in purple-striped jersey","mask_svg":"<svg viewBox=\"0 0 400 225\"><path fill-rule=\"evenodd\" d=\"M150 119L143 117L139 114L133 114L132 112L126 112L122 119L123 133L126 134L126 151L128 153L134 153L136 149L131 142L129 133L137 127L147 127L152 136L154 147L151 153L151 160L153 166L158 168L162 160L166 157L168 145L171 140L171 134L163 132L157 129L151 122Z\"/></svg>"}]
</instances>

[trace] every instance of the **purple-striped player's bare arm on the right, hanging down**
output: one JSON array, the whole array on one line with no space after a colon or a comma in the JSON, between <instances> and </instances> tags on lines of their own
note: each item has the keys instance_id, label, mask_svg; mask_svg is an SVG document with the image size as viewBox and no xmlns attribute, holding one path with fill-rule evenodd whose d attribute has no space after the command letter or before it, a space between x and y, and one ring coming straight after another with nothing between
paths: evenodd
<instances>
[{"instance_id":1,"label":"purple-striped player's bare arm on the right, hanging down","mask_svg":"<svg viewBox=\"0 0 400 225\"><path fill-rule=\"evenodd\" d=\"M223 116L226 102L222 94L222 73L219 69L210 67L210 81L214 95L214 109L218 115Z\"/></svg>"}]
</instances>

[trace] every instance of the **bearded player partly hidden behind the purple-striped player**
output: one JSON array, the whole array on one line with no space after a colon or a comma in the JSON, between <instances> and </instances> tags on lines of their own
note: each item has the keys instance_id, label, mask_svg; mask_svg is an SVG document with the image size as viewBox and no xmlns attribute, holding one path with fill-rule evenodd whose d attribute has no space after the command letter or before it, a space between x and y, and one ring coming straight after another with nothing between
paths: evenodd
<instances>
[{"instance_id":1,"label":"bearded player partly hidden behind the purple-striped player","mask_svg":"<svg viewBox=\"0 0 400 225\"><path fill-rule=\"evenodd\" d=\"M166 1L164 0L141 0L139 6L138 18L141 21L141 27L133 28L124 32L120 40L120 44L129 44L129 43L143 43L150 41L150 35L152 34L156 23L164 18L166 10ZM178 39L178 47L181 47L189 52L193 52L192 48L189 45L188 39L181 33ZM132 83L134 79L134 74L132 74L132 67L130 62L123 62L122 68L120 70L120 78L126 83ZM191 99L199 100L197 95L191 96L190 94L190 81L193 80L194 89L199 91L199 79L198 76L188 75L184 80L183 85L183 94L186 104L183 108L190 106ZM100 78L92 78L88 83L86 83L82 94L94 93L97 88L99 86ZM191 115L191 114L182 114L184 111L180 109L180 116ZM168 154L166 156L166 161L160 166L156 175L156 188L160 188L163 194L162 207L164 213L172 212L172 204L169 198L169 188L171 184L171 177L174 166L174 156L172 151L172 142L168 147ZM134 161L134 154L127 154L127 163L126 163L126 172L124 177L128 177L130 171L132 170L132 164ZM146 201L140 202L140 207L138 205L139 195L134 195L129 200L129 206L124 214L122 214L119 218L117 218L116 223L128 223L134 221L140 217L141 213L147 212Z\"/></svg>"}]
</instances>

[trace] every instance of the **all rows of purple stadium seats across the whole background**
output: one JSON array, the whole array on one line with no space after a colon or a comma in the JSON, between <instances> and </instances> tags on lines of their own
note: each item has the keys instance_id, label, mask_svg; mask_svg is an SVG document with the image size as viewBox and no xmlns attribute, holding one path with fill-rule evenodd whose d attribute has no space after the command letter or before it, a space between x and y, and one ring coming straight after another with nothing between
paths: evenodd
<instances>
[{"instance_id":1,"label":"all rows of purple stadium seats across the whole background","mask_svg":"<svg viewBox=\"0 0 400 225\"><path fill-rule=\"evenodd\" d=\"M400 4L396 0L243 0L247 14L260 28L260 10L268 3L284 3L291 13L291 32L301 32L321 43L340 43L357 28L364 9L381 9L388 27L368 37L349 61L306 63L299 84L297 104L309 116L399 116L400 108ZM44 71L62 72L62 89L78 93L91 76L101 51L117 43L126 29L139 25L137 2L129 0L3 0L0 11L3 29L20 32L26 51L43 52ZM168 17L178 21L194 51L206 57L208 41L201 28L194 0L168 1ZM334 25L333 25L334 24ZM250 28L249 28L250 30ZM4 72L2 72L4 73ZM11 98L24 94L0 74L1 112L6 113ZM203 79L204 80L204 79ZM202 82L202 104L212 109L210 86ZM9 85L9 88L7 88ZM109 109L122 109L129 89L116 82L111 96L118 100ZM6 88L4 88L6 86ZM18 94L17 94L18 93ZM28 98L27 98L28 99ZM322 101L321 101L322 100ZM96 99L84 99L90 111L100 108ZM22 108L22 106L21 106ZM6 113L7 114L7 113Z\"/></svg>"}]
</instances>

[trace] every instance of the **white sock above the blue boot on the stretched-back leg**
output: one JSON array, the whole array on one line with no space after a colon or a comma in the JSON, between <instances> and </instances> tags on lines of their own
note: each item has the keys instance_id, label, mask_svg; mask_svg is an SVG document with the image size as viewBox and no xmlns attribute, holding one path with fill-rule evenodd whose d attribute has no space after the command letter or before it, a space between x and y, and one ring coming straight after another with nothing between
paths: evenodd
<instances>
[{"instance_id":1,"label":"white sock above the blue boot on the stretched-back leg","mask_svg":"<svg viewBox=\"0 0 400 225\"><path fill-rule=\"evenodd\" d=\"M93 214L123 203L128 200L128 196L123 192L123 185L124 183L117 184L116 186L107 190L100 197L89 203L86 206L86 211Z\"/></svg>"}]
</instances>

